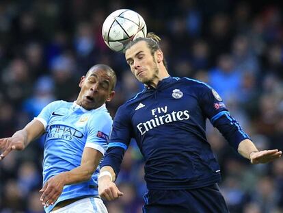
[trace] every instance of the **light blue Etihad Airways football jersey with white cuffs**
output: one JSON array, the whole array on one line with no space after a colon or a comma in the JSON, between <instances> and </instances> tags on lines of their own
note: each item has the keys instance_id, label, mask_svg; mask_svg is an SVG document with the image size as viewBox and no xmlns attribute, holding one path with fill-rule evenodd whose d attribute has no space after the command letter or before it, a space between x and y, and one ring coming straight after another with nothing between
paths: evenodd
<instances>
[{"instance_id":1,"label":"light blue Etihad Airways football jersey with white cuffs","mask_svg":"<svg viewBox=\"0 0 283 213\"><path fill-rule=\"evenodd\" d=\"M75 102L54 101L35 119L45 128L43 184L58 173L80 166L85 147L103 154L107 149L112 118L105 104L95 110L85 110ZM100 164L90 181L64 186L55 204L76 197L98 196L99 170ZM45 211L50 212L54 206L50 205Z\"/></svg>"}]
</instances>

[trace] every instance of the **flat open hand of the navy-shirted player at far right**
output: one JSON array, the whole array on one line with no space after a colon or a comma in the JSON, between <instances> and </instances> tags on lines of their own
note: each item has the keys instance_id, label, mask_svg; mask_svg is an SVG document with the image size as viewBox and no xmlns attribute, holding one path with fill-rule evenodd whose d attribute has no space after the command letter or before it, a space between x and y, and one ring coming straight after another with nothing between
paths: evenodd
<instances>
[{"instance_id":1,"label":"flat open hand of the navy-shirted player at far right","mask_svg":"<svg viewBox=\"0 0 283 213\"><path fill-rule=\"evenodd\" d=\"M278 149L256 151L250 154L250 160L252 164L265 164L280 158L281 155L282 151Z\"/></svg>"}]
</instances>

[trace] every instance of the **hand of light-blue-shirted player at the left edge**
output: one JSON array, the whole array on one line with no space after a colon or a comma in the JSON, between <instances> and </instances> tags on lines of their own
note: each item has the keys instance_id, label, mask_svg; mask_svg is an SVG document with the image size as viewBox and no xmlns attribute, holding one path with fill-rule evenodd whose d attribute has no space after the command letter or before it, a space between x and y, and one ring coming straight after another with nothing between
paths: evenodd
<instances>
[{"instance_id":1,"label":"hand of light-blue-shirted player at the left edge","mask_svg":"<svg viewBox=\"0 0 283 213\"><path fill-rule=\"evenodd\" d=\"M25 139L21 134L14 134L10 138L1 138L0 139L0 160L3 160L12 150L23 150L25 149Z\"/></svg>"}]
</instances>

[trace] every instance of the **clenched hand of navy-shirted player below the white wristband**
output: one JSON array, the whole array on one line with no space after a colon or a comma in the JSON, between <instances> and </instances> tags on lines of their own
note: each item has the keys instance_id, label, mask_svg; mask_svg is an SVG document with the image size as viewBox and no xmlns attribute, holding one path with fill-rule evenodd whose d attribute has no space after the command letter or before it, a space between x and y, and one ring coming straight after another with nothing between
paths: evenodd
<instances>
[{"instance_id":1,"label":"clenched hand of navy-shirted player below the white wristband","mask_svg":"<svg viewBox=\"0 0 283 213\"><path fill-rule=\"evenodd\" d=\"M109 177L100 177L98 180L98 194L102 199L113 201L123 196L116 184L110 181Z\"/></svg>"}]
</instances>

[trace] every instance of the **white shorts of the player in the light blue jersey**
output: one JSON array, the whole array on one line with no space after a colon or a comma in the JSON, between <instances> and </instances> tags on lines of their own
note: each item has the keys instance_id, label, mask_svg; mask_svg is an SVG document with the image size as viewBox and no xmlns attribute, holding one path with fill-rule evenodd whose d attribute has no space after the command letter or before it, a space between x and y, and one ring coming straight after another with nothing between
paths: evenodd
<instances>
[{"instance_id":1,"label":"white shorts of the player in the light blue jersey","mask_svg":"<svg viewBox=\"0 0 283 213\"><path fill-rule=\"evenodd\" d=\"M103 201L97 197L86 197L70 203L69 205L59 208L59 210L50 213L107 213L107 209Z\"/></svg>"}]
</instances>

